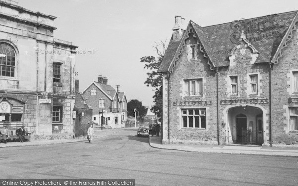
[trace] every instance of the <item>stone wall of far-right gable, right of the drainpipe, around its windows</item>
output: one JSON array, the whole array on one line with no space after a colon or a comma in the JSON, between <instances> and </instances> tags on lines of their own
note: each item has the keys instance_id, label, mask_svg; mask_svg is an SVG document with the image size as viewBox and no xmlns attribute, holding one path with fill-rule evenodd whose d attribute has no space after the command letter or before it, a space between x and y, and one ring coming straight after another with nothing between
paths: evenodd
<instances>
[{"instance_id":1,"label":"stone wall of far-right gable, right of the drainpipe, around its windows","mask_svg":"<svg viewBox=\"0 0 298 186\"><path fill-rule=\"evenodd\" d=\"M293 31L292 39L282 52L279 63L272 70L272 141L274 144L298 144L298 131L289 131L289 98L298 98L291 89L292 70L298 70L298 32ZM295 100L295 99L294 99Z\"/></svg>"}]
</instances>

